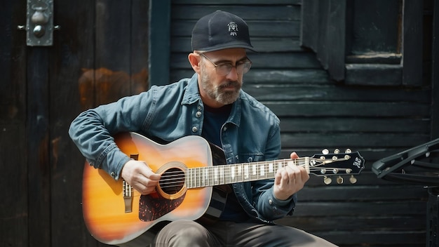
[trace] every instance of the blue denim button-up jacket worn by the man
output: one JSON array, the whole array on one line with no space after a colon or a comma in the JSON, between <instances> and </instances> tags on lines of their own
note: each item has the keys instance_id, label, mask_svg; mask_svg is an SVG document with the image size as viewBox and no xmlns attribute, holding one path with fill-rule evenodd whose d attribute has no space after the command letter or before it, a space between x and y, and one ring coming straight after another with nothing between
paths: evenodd
<instances>
[{"instance_id":1,"label":"blue denim button-up jacket worn by the man","mask_svg":"<svg viewBox=\"0 0 439 247\"><path fill-rule=\"evenodd\" d=\"M121 98L82 112L69 128L69 135L95 168L119 179L130 159L114 143L112 135L132 131L171 142L186 135L201 135L203 102L197 74L167 86ZM281 152L279 119L262 103L241 91L229 119L221 130L227 163L276 159ZM266 223L292 214L296 195L286 201L273 196L273 180L240 182L234 192L252 218Z\"/></svg>"}]
</instances>

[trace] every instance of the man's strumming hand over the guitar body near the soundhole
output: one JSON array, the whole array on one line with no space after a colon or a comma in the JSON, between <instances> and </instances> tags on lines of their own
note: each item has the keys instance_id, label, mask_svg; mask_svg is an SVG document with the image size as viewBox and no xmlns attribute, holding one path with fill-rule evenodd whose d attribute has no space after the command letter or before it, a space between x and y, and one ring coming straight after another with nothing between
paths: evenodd
<instances>
[{"instance_id":1,"label":"man's strumming hand over the guitar body near the soundhole","mask_svg":"<svg viewBox=\"0 0 439 247\"><path fill-rule=\"evenodd\" d=\"M144 161L130 160L122 168L122 178L140 194L150 194L156 190L161 175L151 171Z\"/></svg>"}]
</instances>

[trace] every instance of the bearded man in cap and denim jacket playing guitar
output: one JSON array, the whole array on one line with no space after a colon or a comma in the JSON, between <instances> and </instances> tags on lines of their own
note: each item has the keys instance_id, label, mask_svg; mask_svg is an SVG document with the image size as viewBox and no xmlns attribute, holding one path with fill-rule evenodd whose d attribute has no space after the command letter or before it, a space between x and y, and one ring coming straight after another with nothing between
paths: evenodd
<instances>
[{"instance_id":1,"label":"bearded man in cap and denim jacket playing guitar","mask_svg":"<svg viewBox=\"0 0 439 247\"><path fill-rule=\"evenodd\" d=\"M247 24L216 11L196 23L188 58L191 79L153 86L80 114L69 129L72 140L95 168L123 178L141 194L155 192L160 174L131 160L112 135L133 131L171 142L201 135L224 149L228 164L276 159L281 152L279 119L241 90L252 62ZM298 156L294 152L292 159ZM309 175L302 167L279 168L274 180L238 182L229 187L219 219L177 220L159 229L153 246L334 246L302 230L273 224L292 214Z\"/></svg>"}]
</instances>

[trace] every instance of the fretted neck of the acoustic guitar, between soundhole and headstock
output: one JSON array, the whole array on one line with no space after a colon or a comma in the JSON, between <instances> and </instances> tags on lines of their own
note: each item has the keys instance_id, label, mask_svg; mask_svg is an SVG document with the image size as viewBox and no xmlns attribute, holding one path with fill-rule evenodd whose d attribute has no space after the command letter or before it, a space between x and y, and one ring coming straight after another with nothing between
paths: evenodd
<instances>
[{"instance_id":1,"label":"fretted neck of the acoustic guitar, between soundhole and headstock","mask_svg":"<svg viewBox=\"0 0 439 247\"><path fill-rule=\"evenodd\" d=\"M304 166L309 173L309 157L299 159L279 159L252 163L188 168L186 187L200 188L228 185L235 182L249 182L274 178L278 168L288 165Z\"/></svg>"}]
</instances>

